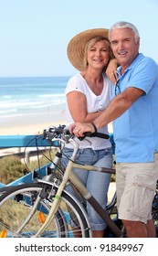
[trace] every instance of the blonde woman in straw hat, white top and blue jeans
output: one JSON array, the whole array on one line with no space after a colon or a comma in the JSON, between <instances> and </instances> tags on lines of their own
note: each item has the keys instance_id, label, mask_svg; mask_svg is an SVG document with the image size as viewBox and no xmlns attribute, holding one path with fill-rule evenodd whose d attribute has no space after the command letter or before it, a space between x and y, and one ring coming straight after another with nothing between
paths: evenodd
<instances>
[{"instance_id":1,"label":"blonde woman in straw hat, white top and blue jeans","mask_svg":"<svg viewBox=\"0 0 158 256\"><path fill-rule=\"evenodd\" d=\"M108 39L108 29L89 29L73 37L68 43L68 59L79 69L79 73L70 80L66 88L68 124L74 122L93 122L111 101L111 80L105 70L112 59L111 46ZM116 61L111 65L116 69ZM108 133L108 126L99 130ZM111 142L102 138L88 138L79 141L78 163L112 166ZM72 155L72 148L67 144L64 155ZM63 155L62 164L68 164L68 158ZM107 205L107 192L111 181L110 174L74 169L74 173L88 188L102 208ZM68 188L71 189L71 188ZM87 206L93 237L102 237L106 223L100 219L88 203Z\"/></svg>"}]
</instances>

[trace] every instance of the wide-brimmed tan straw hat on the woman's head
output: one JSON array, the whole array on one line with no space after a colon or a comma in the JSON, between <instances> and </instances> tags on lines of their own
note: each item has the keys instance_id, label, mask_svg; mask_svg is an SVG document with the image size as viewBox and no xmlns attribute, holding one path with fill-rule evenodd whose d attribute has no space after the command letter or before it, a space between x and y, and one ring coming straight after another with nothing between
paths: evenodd
<instances>
[{"instance_id":1,"label":"wide-brimmed tan straw hat on the woman's head","mask_svg":"<svg viewBox=\"0 0 158 256\"><path fill-rule=\"evenodd\" d=\"M105 37L108 38L109 29L105 28L94 28L85 30L72 39L68 43L67 53L68 59L70 63L75 67L75 69L79 69L79 71L85 69L84 67L84 49L86 44L93 37Z\"/></svg>"}]
</instances>

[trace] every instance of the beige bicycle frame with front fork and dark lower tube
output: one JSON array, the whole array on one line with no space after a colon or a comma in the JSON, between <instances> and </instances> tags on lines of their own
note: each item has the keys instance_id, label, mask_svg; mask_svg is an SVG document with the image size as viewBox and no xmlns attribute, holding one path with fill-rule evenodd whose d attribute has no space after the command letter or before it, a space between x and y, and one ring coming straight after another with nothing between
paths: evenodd
<instances>
[{"instance_id":1,"label":"beige bicycle frame with front fork and dark lower tube","mask_svg":"<svg viewBox=\"0 0 158 256\"><path fill-rule=\"evenodd\" d=\"M61 142L63 143L62 140L61 140ZM71 158L68 161L67 168L64 172L62 181L61 181L60 185L58 186L58 191L54 198L54 201L52 203L50 211L48 213L47 219L44 222L44 224L42 225L42 227L37 231L37 234L34 237L38 237L38 235L41 232L43 232L45 229L47 229L47 226L49 225L51 219L54 218L56 212L58 211L61 194L64 191L66 185L68 184L68 181L70 181L70 183L72 185L74 185L74 187L76 187L79 190L79 193L87 201L89 201L90 205L100 214L100 217L105 220L105 222L110 227L110 229L113 231L113 233L116 235L116 237L122 237L121 229L119 229L117 227L117 225L112 221L109 214L103 208L101 208L101 206L97 202L97 200L90 195L90 192L88 191L88 189L79 181L78 176L76 176L72 172L73 168L79 168L82 170L90 170L90 171L98 171L98 172L106 172L106 173L115 173L115 170L111 169L111 168L97 167L97 166L92 166L92 165L79 165L79 164L74 163L75 157L76 157L78 149L79 149L79 145L76 142L74 142L73 139L70 139L69 143L73 145L73 148L74 148L73 154L71 155ZM49 179L51 179L51 176ZM43 181L41 179L37 179L37 181L50 184L50 181L48 181L48 180Z\"/></svg>"}]
</instances>

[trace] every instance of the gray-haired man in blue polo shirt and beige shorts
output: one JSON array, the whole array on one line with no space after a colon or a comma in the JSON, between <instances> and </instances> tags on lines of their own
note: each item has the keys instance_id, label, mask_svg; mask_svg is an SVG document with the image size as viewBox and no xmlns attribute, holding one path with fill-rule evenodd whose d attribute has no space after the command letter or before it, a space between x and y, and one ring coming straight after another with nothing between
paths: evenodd
<instances>
[{"instance_id":1,"label":"gray-haired man in blue polo shirt and beige shorts","mask_svg":"<svg viewBox=\"0 0 158 256\"><path fill-rule=\"evenodd\" d=\"M158 66L139 53L140 36L128 22L109 31L120 63L113 99L93 125L73 123L77 136L113 121L116 143L116 186L119 218L128 237L155 237L152 201L158 179ZM111 74L113 75L113 74Z\"/></svg>"}]
</instances>

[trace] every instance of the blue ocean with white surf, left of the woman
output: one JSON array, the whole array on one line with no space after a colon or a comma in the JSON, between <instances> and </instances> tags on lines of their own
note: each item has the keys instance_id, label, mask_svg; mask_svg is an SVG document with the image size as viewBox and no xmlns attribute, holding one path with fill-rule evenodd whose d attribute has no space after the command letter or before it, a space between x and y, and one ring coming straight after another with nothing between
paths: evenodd
<instances>
[{"instance_id":1,"label":"blue ocean with white surf, left of the woman","mask_svg":"<svg viewBox=\"0 0 158 256\"><path fill-rule=\"evenodd\" d=\"M69 77L0 78L0 120L65 108Z\"/></svg>"}]
</instances>

